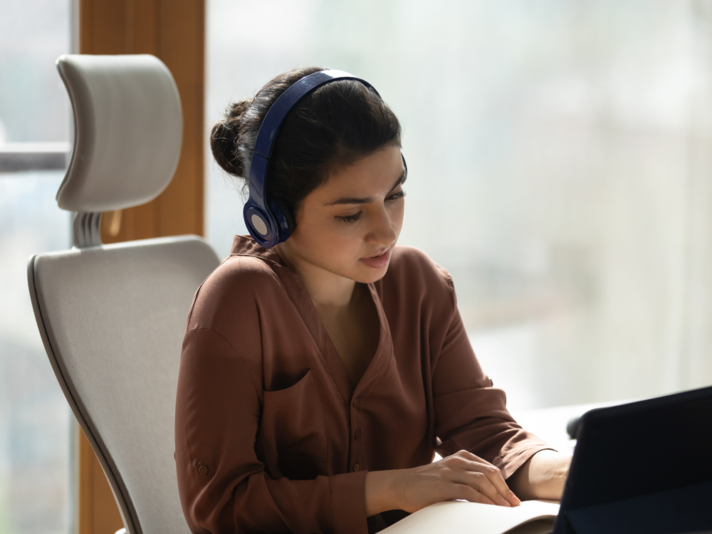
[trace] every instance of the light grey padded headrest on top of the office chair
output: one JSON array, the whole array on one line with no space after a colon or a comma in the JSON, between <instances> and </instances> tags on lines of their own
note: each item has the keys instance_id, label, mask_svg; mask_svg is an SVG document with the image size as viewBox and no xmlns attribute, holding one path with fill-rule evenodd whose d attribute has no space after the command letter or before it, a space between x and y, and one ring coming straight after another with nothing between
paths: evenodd
<instances>
[{"instance_id":1,"label":"light grey padded headrest on top of the office chair","mask_svg":"<svg viewBox=\"0 0 712 534\"><path fill-rule=\"evenodd\" d=\"M71 211L145 204L178 165L183 117L168 68L155 56L65 55L57 70L74 110L74 151L57 192Z\"/></svg>"}]
</instances>

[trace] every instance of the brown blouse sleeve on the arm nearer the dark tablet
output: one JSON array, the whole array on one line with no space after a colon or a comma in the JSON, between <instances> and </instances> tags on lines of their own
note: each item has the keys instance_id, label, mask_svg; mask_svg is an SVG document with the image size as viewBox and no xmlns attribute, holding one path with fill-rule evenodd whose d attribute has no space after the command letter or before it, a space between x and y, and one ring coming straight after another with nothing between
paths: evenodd
<instances>
[{"instance_id":1,"label":"brown blouse sleeve on the arm nearer the dark tablet","mask_svg":"<svg viewBox=\"0 0 712 534\"><path fill-rule=\"evenodd\" d=\"M472 350L446 276L452 310L432 377L436 434L442 441L438 452L446 456L470 451L508 478L530 456L550 446L515 422L503 390L492 387Z\"/></svg>"}]
</instances>

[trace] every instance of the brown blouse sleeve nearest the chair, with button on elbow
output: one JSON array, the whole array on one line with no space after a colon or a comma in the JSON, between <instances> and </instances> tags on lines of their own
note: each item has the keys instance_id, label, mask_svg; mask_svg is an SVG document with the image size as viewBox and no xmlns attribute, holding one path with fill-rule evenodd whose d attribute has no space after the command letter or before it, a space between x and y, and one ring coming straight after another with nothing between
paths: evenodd
<instances>
[{"instance_id":1,"label":"brown blouse sleeve nearest the chair, with button on elbow","mask_svg":"<svg viewBox=\"0 0 712 534\"><path fill-rule=\"evenodd\" d=\"M224 337L189 330L176 410L176 461L194 533L365 531L365 472L274 480L256 456L261 387Z\"/></svg>"}]
</instances>

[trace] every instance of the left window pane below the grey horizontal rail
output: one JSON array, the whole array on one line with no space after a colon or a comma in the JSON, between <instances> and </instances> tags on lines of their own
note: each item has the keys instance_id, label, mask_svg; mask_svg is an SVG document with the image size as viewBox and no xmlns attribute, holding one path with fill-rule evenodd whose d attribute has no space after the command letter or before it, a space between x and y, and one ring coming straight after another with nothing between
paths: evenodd
<instances>
[{"instance_id":1,"label":"left window pane below the grey horizontal rail","mask_svg":"<svg viewBox=\"0 0 712 534\"><path fill-rule=\"evenodd\" d=\"M68 531L71 411L27 289L31 254L70 246L61 172L0 174L0 532Z\"/></svg>"}]
</instances>

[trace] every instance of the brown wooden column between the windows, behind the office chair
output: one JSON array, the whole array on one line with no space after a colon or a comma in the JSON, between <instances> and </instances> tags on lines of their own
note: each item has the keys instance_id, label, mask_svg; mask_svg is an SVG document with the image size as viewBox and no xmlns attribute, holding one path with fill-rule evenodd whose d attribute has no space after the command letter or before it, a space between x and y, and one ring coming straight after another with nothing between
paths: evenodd
<instances>
[{"instance_id":1,"label":"brown wooden column between the windows, behind the office chair","mask_svg":"<svg viewBox=\"0 0 712 534\"><path fill-rule=\"evenodd\" d=\"M150 53L178 85L183 145L178 169L155 200L103 216L102 241L203 234L204 0L79 0L83 54ZM109 484L80 431L79 534L122 528Z\"/></svg>"}]
</instances>

